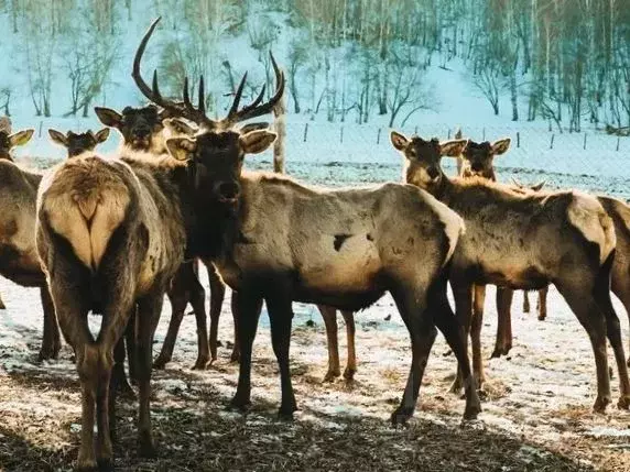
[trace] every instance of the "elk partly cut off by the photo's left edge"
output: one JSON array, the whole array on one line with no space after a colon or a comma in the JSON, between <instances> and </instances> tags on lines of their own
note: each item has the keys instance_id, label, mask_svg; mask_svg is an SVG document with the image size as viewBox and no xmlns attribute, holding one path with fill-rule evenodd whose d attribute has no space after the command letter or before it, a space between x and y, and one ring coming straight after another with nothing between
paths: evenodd
<instances>
[{"instance_id":1,"label":"elk partly cut off by the photo's left edge","mask_svg":"<svg viewBox=\"0 0 630 472\"><path fill-rule=\"evenodd\" d=\"M68 135L70 133L68 132ZM31 139L33 130L15 134L21 138L9 139L7 142L25 144ZM1 138L2 131L0 131ZM75 149L77 144L74 143ZM44 334L39 359L47 360L58 356L62 344L55 310L35 246L35 200L41 180L42 175L39 173L25 171L11 162L0 161L0 182L2 182L0 201L2 208L7 209L0 217L0 274L19 285L40 288L44 311ZM124 372L118 374L124 378ZM127 381L121 381L120 385L128 386Z\"/></svg>"}]
</instances>

